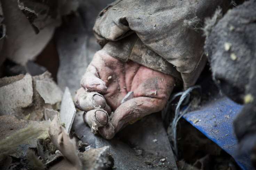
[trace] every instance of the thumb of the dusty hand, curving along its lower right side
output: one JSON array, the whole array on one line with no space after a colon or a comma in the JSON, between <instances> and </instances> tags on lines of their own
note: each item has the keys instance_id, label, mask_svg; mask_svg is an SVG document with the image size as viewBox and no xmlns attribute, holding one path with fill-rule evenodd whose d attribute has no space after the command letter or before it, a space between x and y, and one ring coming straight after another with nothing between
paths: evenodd
<instances>
[{"instance_id":1,"label":"thumb of the dusty hand, curving along its lower right side","mask_svg":"<svg viewBox=\"0 0 256 170\"><path fill-rule=\"evenodd\" d=\"M158 112L163 109L167 99L154 97L135 97L121 104L111 115L111 123L114 126L115 133L120 131L129 122L136 121L144 116Z\"/></svg>"}]
</instances>

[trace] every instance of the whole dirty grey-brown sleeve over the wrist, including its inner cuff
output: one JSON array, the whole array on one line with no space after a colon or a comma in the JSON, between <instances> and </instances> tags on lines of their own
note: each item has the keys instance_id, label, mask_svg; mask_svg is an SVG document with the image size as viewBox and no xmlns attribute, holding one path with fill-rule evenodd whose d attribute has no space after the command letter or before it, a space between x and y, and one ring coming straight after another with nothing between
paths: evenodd
<instances>
[{"instance_id":1,"label":"whole dirty grey-brown sleeve over the wrist, including its inner cuff","mask_svg":"<svg viewBox=\"0 0 256 170\"><path fill-rule=\"evenodd\" d=\"M111 56L173 75L186 89L205 66L200 27L218 6L225 11L231 1L118 0L99 13L93 31Z\"/></svg>"}]
</instances>

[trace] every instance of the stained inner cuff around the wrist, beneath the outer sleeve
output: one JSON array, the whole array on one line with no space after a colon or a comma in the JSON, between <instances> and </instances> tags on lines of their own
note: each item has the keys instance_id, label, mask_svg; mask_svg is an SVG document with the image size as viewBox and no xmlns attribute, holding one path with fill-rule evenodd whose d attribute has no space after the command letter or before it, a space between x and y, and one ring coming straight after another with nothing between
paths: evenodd
<instances>
[{"instance_id":1,"label":"stained inner cuff around the wrist, beneath the outer sleeve","mask_svg":"<svg viewBox=\"0 0 256 170\"><path fill-rule=\"evenodd\" d=\"M105 44L103 50L119 60L133 60L153 70L172 75L176 78L176 85L180 85L182 82L181 74L174 65L147 48L136 34L129 35L119 41L110 41Z\"/></svg>"}]
</instances>

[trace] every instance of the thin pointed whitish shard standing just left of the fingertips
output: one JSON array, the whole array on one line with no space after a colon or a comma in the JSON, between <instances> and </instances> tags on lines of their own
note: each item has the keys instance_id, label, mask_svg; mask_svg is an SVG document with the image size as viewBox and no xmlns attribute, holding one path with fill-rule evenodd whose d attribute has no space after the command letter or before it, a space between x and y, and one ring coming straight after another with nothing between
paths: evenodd
<instances>
[{"instance_id":1,"label":"thin pointed whitish shard standing just left of the fingertips","mask_svg":"<svg viewBox=\"0 0 256 170\"><path fill-rule=\"evenodd\" d=\"M75 106L74 106L71 94L69 92L69 88L66 87L64 95L62 97L61 111L59 113L59 116L61 118L61 122L65 123L67 133L70 133L70 129L74 121L75 113L76 113L76 110L75 110Z\"/></svg>"}]
</instances>

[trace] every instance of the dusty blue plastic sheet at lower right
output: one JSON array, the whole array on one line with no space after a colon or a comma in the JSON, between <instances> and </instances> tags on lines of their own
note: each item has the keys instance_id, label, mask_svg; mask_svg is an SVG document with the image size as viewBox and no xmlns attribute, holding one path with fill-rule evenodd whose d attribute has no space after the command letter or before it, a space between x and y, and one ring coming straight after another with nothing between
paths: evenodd
<instances>
[{"instance_id":1,"label":"dusty blue plastic sheet at lower right","mask_svg":"<svg viewBox=\"0 0 256 170\"><path fill-rule=\"evenodd\" d=\"M242 106L219 94L187 112L183 118L229 153L243 170L254 169L249 154L239 154L232 120ZM242 126L242 125L241 125Z\"/></svg>"}]
</instances>

